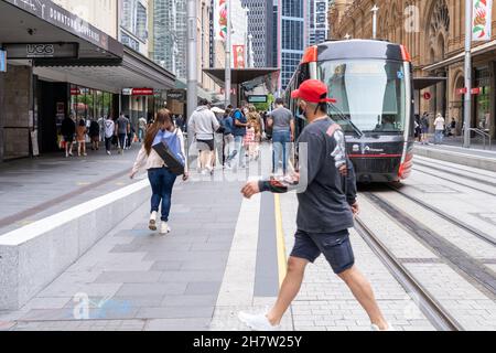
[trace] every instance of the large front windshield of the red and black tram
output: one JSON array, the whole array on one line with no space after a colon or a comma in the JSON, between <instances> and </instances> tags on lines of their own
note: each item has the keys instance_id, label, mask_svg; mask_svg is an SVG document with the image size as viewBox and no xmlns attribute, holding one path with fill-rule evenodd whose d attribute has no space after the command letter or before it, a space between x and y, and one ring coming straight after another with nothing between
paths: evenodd
<instances>
[{"instance_id":1,"label":"large front windshield of the red and black tram","mask_svg":"<svg viewBox=\"0 0 496 353\"><path fill-rule=\"evenodd\" d=\"M405 67L401 62L385 60L320 62L319 79L337 99L330 115L346 132L403 132L408 104Z\"/></svg>"}]
</instances>

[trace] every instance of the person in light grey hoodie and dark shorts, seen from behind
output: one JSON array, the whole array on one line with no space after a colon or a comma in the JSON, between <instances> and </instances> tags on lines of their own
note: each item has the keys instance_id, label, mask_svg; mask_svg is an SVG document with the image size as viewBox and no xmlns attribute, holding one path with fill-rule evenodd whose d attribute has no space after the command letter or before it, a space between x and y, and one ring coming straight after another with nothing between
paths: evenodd
<instances>
[{"instance_id":1,"label":"person in light grey hoodie and dark shorts, seen from behind","mask_svg":"<svg viewBox=\"0 0 496 353\"><path fill-rule=\"evenodd\" d=\"M200 150L200 172L213 174L213 158L215 151L215 131L220 125L215 117L215 114L209 108L209 103L206 99L200 101L200 106L190 117L187 125L188 136L193 136Z\"/></svg>"}]
</instances>

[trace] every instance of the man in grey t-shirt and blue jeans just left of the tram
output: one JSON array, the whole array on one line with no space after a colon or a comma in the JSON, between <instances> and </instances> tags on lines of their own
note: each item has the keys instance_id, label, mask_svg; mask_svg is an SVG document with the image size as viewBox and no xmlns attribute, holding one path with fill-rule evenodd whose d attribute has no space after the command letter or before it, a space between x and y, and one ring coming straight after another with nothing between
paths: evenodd
<instances>
[{"instance_id":1,"label":"man in grey t-shirt and blue jeans just left of the tram","mask_svg":"<svg viewBox=\"0 0 496 353\"><path fill-rule=\"evenodd\" d=\"M276 109L269 114L268 126L272 129L272 173L278 173L282 162L282 173L287 175L289 143L294 141L294 117L291 110L284 108L282 98L276 99Z\"/></svg>"}]
</instances>

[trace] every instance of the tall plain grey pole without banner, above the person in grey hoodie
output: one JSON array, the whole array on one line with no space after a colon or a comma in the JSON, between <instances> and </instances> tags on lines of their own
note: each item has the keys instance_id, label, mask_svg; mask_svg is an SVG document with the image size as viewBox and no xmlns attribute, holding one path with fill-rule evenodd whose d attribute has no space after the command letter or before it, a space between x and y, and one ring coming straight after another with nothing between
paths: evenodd
<instances>
[{"instance_id":1,"label":"tall plain grey pole without banner, above the person in grey hoodie","mask_svg":"<svg viewBox=\"0 0 496 353\"><path fill-rule=\"evenodd\" d=\"M187 119L197 105L196 0L187 0Z\"/></svg>"}]
</instances>

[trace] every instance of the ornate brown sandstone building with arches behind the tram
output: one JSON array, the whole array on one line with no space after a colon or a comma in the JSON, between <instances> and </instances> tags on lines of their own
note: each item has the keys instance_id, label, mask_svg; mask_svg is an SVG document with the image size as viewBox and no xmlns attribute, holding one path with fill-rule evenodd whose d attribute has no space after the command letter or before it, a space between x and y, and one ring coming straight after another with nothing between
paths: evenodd
<instances>
[{"instance_id":1,"label":"ornate brown sandstone building with arches behind the tram","mask_svg":"<svg viewBox=\"0 0 496 353\"><path fill-rule=\"evenodd\" d=\"M416 77L446 77L445 81L418 93L417 110L455 118L460 132L463 120L464 87L464 0L336 0L328 12L331 38L370 39L373 13L377 4L378 39L405 44L414 65ZM495 136L496 96L496 7L493 8L493 36L487 42L473 42L472 127ZM429 92L430 99L423 94ZM418 111L419 113L419 111Z\"/></svg>"}]
</instances>

